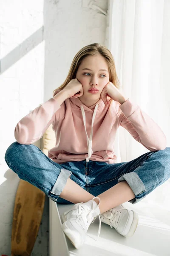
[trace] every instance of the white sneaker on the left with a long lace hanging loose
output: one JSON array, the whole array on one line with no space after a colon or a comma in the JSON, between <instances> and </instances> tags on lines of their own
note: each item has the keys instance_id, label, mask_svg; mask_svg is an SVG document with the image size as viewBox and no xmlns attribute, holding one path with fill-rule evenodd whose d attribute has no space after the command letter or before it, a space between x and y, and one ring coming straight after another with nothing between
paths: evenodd
<instances>
[{"instance_id":1,"label":"white sneaker on the left with a long lace hanging loose","mask_svg":"<svg viewBox=\"0 0 170 256\"><path fill-rule=\"evenodd\" d=\"M79 249L84 244L88 227L91 223L94 222L97 216L99 216L99 238L101 227L101 220L99 215L100 198L98 198L99 204L96 204L94 201L95 198L98 197L94 197L92 200L86 203L74 204L71 209L64 212L62 215L62 230L77 249Z\"/></svg>"}]
</instances>

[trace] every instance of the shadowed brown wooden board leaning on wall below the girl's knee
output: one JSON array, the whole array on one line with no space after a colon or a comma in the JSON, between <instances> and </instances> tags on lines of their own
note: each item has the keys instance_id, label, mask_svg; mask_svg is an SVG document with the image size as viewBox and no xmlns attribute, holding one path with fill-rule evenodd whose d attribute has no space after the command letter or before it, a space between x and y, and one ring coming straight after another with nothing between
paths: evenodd
<instances>
[{"instance_id":1,"label":"shadowed brown wooden board leaning on wall below the girl's knee","mask_svg":"<svg viewBox=\"0 0 170 256\"><path fill-rule=\"evenodd\" d=\"M11 256L30 256L37 239L45 194L20 180L15 198L11 235Z\"/></svg>"}]
</instances>

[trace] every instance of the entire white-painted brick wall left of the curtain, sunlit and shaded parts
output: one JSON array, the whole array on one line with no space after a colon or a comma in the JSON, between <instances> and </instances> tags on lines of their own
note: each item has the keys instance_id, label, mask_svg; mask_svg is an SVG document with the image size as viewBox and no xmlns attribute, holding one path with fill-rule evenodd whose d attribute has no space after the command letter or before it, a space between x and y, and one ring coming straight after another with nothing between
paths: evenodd
<instances>
[{"instance_id":1,"label":"entire white-painted brick wall left of the curtain, sunlit and shaded parts","mask_svg":"<svg viewBox=\"0 0 170 256\"><path fill-rule=\"evenodd\" d=\"M108 0L94 1L105 12ZM17 122L52 97L77 51L106 43L107 16L88 0L0 2L0 254L11 253L18 176L4 160ZM40 141L36 143L40 147ZM48 255L48 198L32 256Z\"/></svg>"}]
</instances>

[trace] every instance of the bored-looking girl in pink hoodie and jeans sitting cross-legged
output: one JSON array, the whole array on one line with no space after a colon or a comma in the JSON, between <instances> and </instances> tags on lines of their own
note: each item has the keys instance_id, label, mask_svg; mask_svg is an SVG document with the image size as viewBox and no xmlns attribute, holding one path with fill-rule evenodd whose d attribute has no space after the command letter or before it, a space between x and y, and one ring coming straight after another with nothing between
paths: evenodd
<instances>
[{"instance_id":1,"label":"bored-looking girl in pink hoodie and jeans sitting cross-legged","mask_svg":"<svg viewBox=\"0 0 170 256\"><path fill-rule=\"evenodd\" d=\"M32 143L51 124L56 144L47 157ZM113 143L119 126L149 152L116 163ZM97 216L99 232L102 221L122 236L133 236L138 215L122 204L136 204L170 178L170 147L163 131L119 91L113 56L100 44L79 50L64 83L17 123L14 136L7 165L53 201L74 204L62 215L62 230L76 248Z\"/></svg>"}]
</instances>

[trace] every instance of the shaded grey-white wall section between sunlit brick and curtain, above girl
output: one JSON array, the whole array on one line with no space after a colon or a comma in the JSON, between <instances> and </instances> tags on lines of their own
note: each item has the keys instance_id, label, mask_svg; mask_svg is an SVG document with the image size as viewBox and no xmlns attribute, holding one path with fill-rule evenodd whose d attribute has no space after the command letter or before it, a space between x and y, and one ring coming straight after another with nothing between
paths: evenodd
<instances>
[{"instance_id":1,"label":"shaded grey-white wall section between sunlit brick and curtain, above girl","mask_svg":"<svg viewBox=\"0 0 170 256\"><path fill-rule=\"evenodd\" d=\"M105 43L106 16L83 7L89 0L63 0L45 2L45 91L44 99L65 80L74 55L87 44ZM107 10L107 0L96 0ZM49 18L50 17L50 18Z\"/></svg>"}]
</instances>

